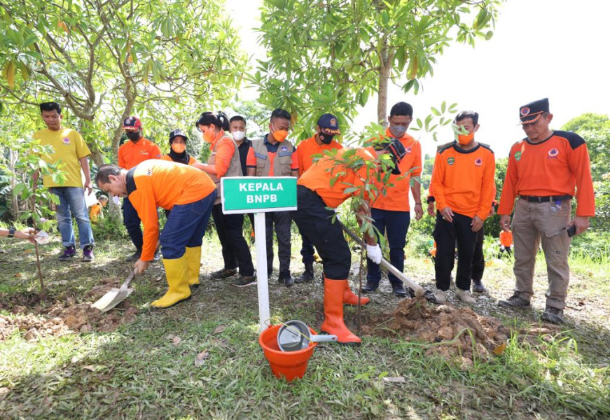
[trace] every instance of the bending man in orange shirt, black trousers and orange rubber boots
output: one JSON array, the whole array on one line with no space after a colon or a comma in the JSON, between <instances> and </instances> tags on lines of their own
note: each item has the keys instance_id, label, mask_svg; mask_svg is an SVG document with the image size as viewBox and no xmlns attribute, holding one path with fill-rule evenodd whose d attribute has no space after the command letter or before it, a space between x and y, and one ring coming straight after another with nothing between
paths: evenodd
<instances>
[{"instance_id":1,"label":"bending man in orange shirt, black trousers and orange rubber boots","mask_svg":"<svg viewBox=\"0 0 610 420\"><path fill-rule=\"evenodd\" d=\"M345 153L354 153L354 150L342 149L337 152L336 159L341 159ZM397 169L398 172L398 164L405 155L405 148L396 139L380 142L375 148L355 151L365 163L377 163L375 160L382 153L389 153L394 170ZM343 304L357 304L358 297L349 290L347 282L352 252L349 251L340 225L333 223L335 213L332 209L358 194L356 190L345 193L347 186L361 188L372 176L371 172L377 170L380 169L375 165L366 164L357 170L352 169L326 157L305 171L297 182L298 209L292 212L292 218L300 232L316 247L324 267L324 323L321 330L337 335L341 344L359 345L361 339L352 334L343 320ZM335 182L331 185L331 179L334 178ZM374 197L368 197L369 200L371 198ZM370 218L369 208L368 203L359 208L356 214L359 223L361 217ZM381 262L381 248L375 236L366 236L366 252L373 262ZM363 297L360 303L368 303L368 298Z\"/></svg>"}]
</instances>

